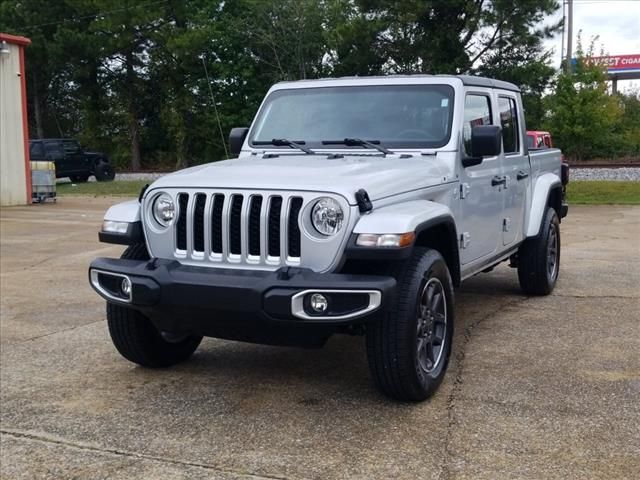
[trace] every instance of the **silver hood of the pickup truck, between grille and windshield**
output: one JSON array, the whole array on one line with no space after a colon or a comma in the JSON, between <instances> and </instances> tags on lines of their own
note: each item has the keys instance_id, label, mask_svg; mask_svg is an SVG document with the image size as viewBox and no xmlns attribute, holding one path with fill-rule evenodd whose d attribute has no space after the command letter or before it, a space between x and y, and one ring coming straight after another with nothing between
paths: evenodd
<instances>
[{"instance_id":1,"label":"silver hood of the pickup truck, between grille and windshield","mask_svg":"<svg viewBox=\"0 0 640 480\"><path fill-rule=\"evenodd\" d=\"M165 175L156 188L224 188L317 191L338 193L355 204L354 194L364 188L377 200L443 183L451 172L436 155L326 155L257 156L225 160Z\"/></svg>"}]
</instances>

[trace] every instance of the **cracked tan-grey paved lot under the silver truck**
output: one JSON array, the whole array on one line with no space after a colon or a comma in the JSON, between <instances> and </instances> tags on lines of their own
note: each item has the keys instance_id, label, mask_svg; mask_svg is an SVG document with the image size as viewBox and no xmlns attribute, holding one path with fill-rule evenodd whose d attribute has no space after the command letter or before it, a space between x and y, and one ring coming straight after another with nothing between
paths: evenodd
<instances>
[{"instance_id":1,"label":"cracked tan-grey paved lot under the silver truck","mask_svg":"<svg viewBox=\"0 0 640 480\"><path fill-rule=\"evenodd\" d=\"M552 296L507 266L457 292L454 360L398 404L363 341L205 339L163 371L122 359L87 284L111 199L0 211L2 478L638 478L640 208L572 207Z\"/></svg>"}]
</instances>

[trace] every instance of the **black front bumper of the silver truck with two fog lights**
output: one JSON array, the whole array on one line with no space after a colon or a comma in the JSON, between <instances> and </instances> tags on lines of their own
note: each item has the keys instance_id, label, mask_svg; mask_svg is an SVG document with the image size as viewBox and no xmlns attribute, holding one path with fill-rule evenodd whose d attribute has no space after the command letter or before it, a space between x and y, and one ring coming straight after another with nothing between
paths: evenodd
<instances>
[{"instance_id":1,"label":"black front bumper of the silver truck with two fog lights","mask_svg":"<svg viewBox=\"0 0 640 480\"><path fill-rule=\"evenodd\" d=\"M122 294L118 298L125 276L131 282L130 299ZM301 268L265 272L192 267L160 259L98 258L89 267L89 277L108 302L141 311L161 330L284 345L322 343L345 326L375 319L386 310L396 286L392 277L318 274ZM324 315L307 315L303 292L314 291L334 291L327 296L335 307ZM379 292L379 305L362 308L359 291ZM306 318L299 311L294 314L297 294L304 299L298 305L304 304Z\"/></svg>"}]
</instances>

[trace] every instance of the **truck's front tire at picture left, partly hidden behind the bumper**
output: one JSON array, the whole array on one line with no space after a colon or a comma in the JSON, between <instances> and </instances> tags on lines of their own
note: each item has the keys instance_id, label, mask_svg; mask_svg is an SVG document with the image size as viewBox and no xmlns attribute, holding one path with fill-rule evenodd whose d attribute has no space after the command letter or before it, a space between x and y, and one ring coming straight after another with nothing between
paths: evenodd
<instances>
[{"instance_id":1,"label":"truck's front tire at picture left, partly hidden behind the bumper","mask_svg":"<svg viewBox=\"0 0 640 480\"><path fill-rule=\"evenodd\" d=\"M121 258L146 260L144 244L132 245ZM170 335L160 332L151 320L137 310L107 302L109 334L120 355L149 368L169 367L189 358L198 348L198 335Z\"/></svg>"}]
</instances>

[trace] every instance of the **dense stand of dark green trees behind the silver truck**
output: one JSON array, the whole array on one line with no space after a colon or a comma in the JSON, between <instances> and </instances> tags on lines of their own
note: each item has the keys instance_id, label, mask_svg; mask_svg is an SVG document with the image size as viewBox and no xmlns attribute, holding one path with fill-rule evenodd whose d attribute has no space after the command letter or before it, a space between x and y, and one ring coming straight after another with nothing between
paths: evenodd
<instances>
[{"instance_id":1,"label":"dense stand of dark green trees behind the silver truck","mask_svg":"<svg viewBox=\"0 0 640 480\"><path fill-rule=\"evenodd\" d=\"M550 75L540 22L557 4L0 0L0 29L33 40L39 136L77 136L121 167L183 167L223 158L230 128L281 80L481 73L522 85L537 119Z\"/></svg>"}]
</instances>

